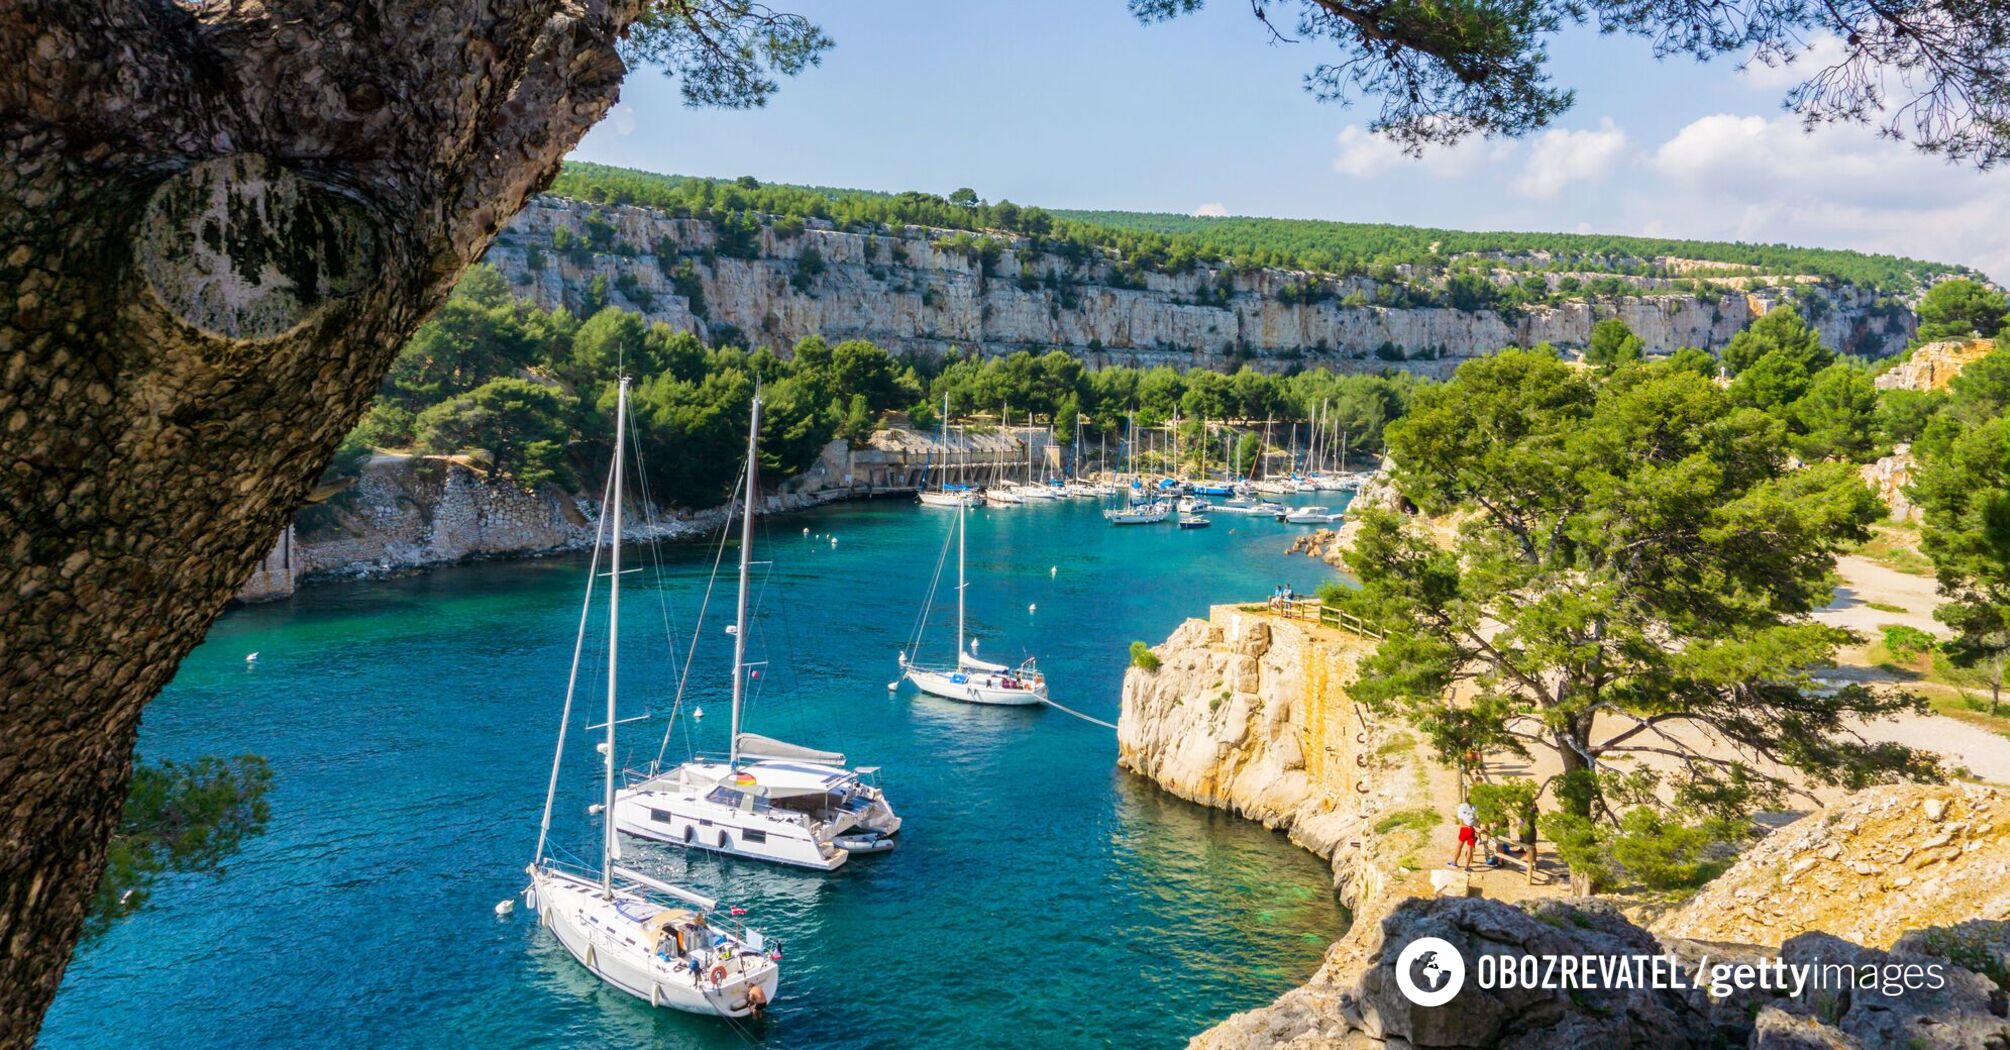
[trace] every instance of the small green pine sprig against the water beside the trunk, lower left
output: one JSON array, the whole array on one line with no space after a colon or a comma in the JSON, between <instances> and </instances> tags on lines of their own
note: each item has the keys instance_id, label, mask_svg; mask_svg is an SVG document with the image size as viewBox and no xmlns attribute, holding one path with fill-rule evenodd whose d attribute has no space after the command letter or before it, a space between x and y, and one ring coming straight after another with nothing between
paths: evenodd
<instances>
[{"instance_id":1,"label":"small green pine sprig against the water beside the trunk, lower left","mask_svg":"<svg viewBox=\"0 0 2010 1050\"><path fill-rule=\"evenodd\" d=\"M84 935L139 911L169 871L223 875L245 839L265 831L271 768L255 754L195 762L133 758L133 789L107 847Z\"/></svg>"}]
</instances>

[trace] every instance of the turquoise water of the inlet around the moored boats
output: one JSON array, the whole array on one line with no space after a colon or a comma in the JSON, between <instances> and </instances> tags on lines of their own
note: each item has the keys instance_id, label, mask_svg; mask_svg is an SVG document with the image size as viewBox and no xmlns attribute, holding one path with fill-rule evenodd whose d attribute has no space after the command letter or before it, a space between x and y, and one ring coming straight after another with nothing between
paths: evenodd
<instances>
[{"instance_id":1,"label":"turquoise water of the inlet around the moored boats","mask_svg":"<svg viewBox=\"0 0 2010 1050\"><path fill-rule=\"evenodd\" d=\"M551 768L585 577L561 557L328 583L221 618L147 708L141 748L265 754L271 827L227 877L173 877L86 945L42 1044L1180 1046L1302 982L1345 925L1321 861L1118 770L1108 728L886 692L951 517L832 507L766 519L756 547L772 567L750 656L770 664L750 728L882 764L902 845L832 875L629 849L784 943L762 1030L649 1010L523 907L492 915L525 883ZM1282 555L1300 531L1228 515L1116 529L1085 501L975 511L973 634L995 660L1037 654L1055 700L1116 720L1132 640L1329 577ZM714 553L659 551L661 569L623 577L623 716L669 710L665 624L681 652ZM923 652L937 660L955 644L949 571ZM728 577L691 672L706 716L689 738L677 720L673 760L724 746L730 616ZM595 688L589 668L575 730L605 704ZM663 722L621 732L623 758L647 762ZM553 835L583 855L593 762L573 732Z\"/></svg>"}]
</instances>

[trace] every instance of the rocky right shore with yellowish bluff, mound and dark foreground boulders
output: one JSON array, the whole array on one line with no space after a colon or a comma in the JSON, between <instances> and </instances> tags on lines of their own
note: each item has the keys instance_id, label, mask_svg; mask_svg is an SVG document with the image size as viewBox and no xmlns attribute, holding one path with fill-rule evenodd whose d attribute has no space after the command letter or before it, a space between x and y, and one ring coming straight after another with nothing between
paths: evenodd
<instances>
[{"instance_id":1,"label":"rocky right shore with yellowish bluff, mound and dark foreground boulders","mask_svg":"<svg viewBox=\"0 0 2010 1050\"><path fill-rule=\"evenodd\" d=\"M1433 807L1449 807L1455 784L1403 726L1347 700L1369 644L1262 605L1218 605L1154 650L1156 672L1126 674L1120 764L1331 857L1355 913L1304 986L1226 1018L1192 1046L2010 1046L2010 797L2000 789L1851 795L1753 847L1652 929L1600 901L1507 903L1558 893L1560 883L1526 889L1522 873L1437 869L1449 821ZM1417 1008L1397 992L1393 966L1419 935L1457 945L1469 974L1477 953L1668 953L1690 974L1704 955L1779 955L1899 972L1942 966L1946 982L1897 996L1871 986L1803 998L1467 990L1451 1006Z\"/></svg>"}]
</instances>

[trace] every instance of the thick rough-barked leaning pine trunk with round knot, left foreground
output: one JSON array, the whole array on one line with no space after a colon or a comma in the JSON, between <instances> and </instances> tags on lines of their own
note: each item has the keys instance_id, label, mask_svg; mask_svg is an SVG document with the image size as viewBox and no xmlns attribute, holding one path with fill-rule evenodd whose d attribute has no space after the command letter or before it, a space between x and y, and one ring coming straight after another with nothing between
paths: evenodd
<instances>
[{"instance_id":1,"label":"thick rough-barked leaning pine trunk with round knot, left foreground","mask_svg":"<svg viewBox=\"0 0 2010 1050\"><path fill-rule=\"evenodd\" d=\"M613 103L629 0L0 4L0 1046L141 706Z\"/></svg>"}]
</instances>

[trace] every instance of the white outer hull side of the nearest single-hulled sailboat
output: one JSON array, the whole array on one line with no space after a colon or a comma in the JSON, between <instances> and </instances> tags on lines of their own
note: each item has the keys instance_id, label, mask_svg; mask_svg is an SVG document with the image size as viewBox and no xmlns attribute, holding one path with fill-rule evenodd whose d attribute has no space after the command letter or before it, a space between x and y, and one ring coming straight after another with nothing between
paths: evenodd
<instances>
[{"instance_id":1,"label":"white outer hull side of the nearest single-hulled sailboat","mask_svg":"<svg viewBox=\"0 0 2010 1050\"><path fill-rule=\"evenodd\" d=\"M764 957L756 955L760 961L752 966L748 966L748 957L728 961L728 974L722 982L712 982L710 974L691 968L677 970L639 943L619 937L613 923L589 921L589 911L611 909L611 905L573 883L573 879L543 871L533 877L537 921L551 929L565 951L579 959L579 966L603 982L649 1006L667 1006L685 1014L744 1018L754 1012L748 996L752 988L762 990L764 1002L774 1002L782 972L766 964Z\"/></svg>"}]
</instances>

